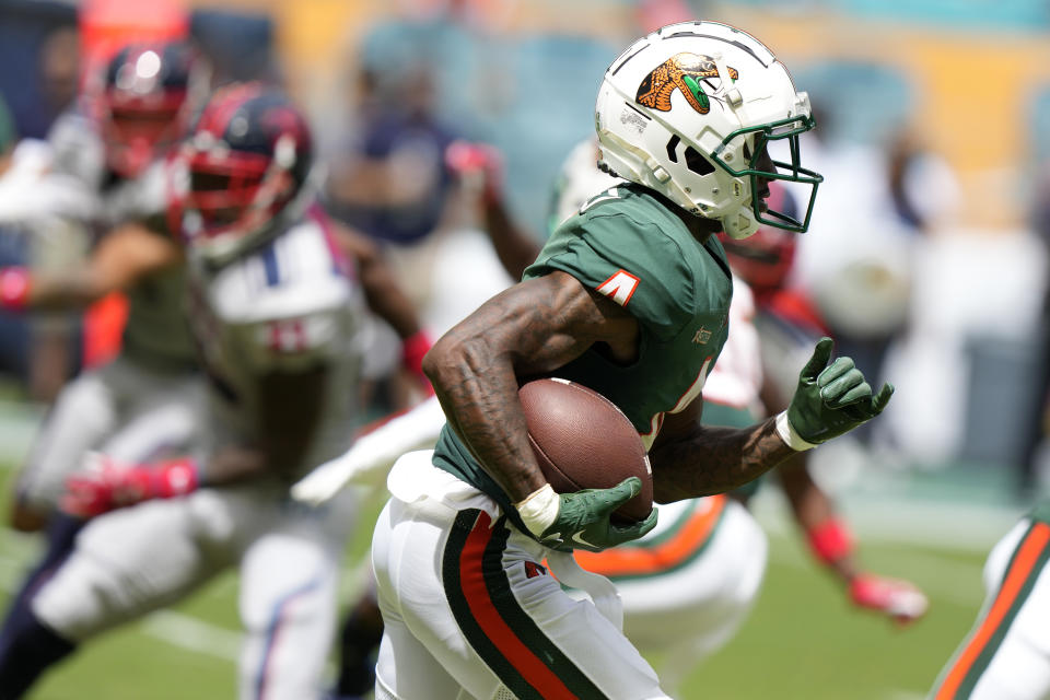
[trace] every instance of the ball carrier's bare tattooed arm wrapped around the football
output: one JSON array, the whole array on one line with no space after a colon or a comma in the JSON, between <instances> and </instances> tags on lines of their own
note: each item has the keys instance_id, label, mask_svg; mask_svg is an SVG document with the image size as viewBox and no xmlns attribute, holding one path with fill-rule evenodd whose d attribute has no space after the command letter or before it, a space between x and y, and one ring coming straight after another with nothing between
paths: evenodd
<instances>
[{"instance_id":1,"label":"ball carrier's bare tattooed arm wrapped around the football","mask_svg":"<svg viewBox=\"0 0 1050 700\"><path fill-rule=\"evenodd\" d=\"M448 422L514 502L546 480L526 436L518 377L539 376L595 343L630 362L634 318L564 272L505 290L442 337L423 370Z\"/></svg>"}]
</instances>

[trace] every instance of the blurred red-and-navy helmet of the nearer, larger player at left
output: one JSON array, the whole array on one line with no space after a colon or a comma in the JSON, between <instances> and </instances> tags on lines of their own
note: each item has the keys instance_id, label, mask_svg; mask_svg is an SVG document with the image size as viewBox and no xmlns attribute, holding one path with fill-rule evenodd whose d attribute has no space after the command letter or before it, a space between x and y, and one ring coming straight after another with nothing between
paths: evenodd
<instances>
[{"instance_id":1,"label":"blurred red-and-navy helmet of the nearer, larger player at left","mask_svg":"<svg viewBox=\"0 0 1050 700\"><path fill-rule=\"evenodd\" d=\"M306 119L261 83L217 92L183 144L180 229L205 256L228 260L305 203L313 144Z\"/></svg>"}]
</instances>

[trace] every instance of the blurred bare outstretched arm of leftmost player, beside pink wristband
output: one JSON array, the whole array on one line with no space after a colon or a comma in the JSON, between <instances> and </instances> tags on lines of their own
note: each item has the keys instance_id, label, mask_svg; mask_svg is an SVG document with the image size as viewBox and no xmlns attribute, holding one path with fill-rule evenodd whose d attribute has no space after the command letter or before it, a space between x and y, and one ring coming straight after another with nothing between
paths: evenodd
<instances>
[{"instance_id":1,"label":"blurred bare outstretched arm of leftmost player, beside pink wristband","mask_svg":"<svg viewBox=\"0 0 1050 700\"><path fill-rule=\"evenodd\" d=\"M170 237L139 223L125 224L102 237L86 265L62 275L33 276L25 305L42 311L82 308L182 261L182 248Z\"/></svg>"}]
</instances>

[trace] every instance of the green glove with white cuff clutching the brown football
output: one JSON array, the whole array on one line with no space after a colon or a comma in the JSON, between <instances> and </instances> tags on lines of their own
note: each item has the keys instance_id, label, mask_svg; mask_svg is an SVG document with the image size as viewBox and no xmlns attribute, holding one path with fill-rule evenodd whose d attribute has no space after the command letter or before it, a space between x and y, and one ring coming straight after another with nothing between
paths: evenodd
<instances>
[{"instance_id":1,"label":"green glove with white cuff clutching the brown football","mask_svg":"<svg viewBox=\"0 0 1050 700\"><path fill-rule=\"evenodd\" d=\"M575 493L553 493L552 490L537 492L538 501L548 500L542 510L552 506L558 509L553 522L540 532L536 532L537 521L547 520L536 517L535 501L528 505L520 504L518 513L525 525L536 535L539 541L553 549L563 551L585 549L602 551L632 539L638 539L656 527L656 509L644 521L630 525L617 525L610 521L612 511L623 505L642 490L642 481L638 477L629 477L610 489L584 489ZM552 502L557 499L557 505ZM529 499L533 500L533 499ZM535 513L535 516L534 516ZM548 521L549 522L549 521Z\"/></svg>"}]
</instances>

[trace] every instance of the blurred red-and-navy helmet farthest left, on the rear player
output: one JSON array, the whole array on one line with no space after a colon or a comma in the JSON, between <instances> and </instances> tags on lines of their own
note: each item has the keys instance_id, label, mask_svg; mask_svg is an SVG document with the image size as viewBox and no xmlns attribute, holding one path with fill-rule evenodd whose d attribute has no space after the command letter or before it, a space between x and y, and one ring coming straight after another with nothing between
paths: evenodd
<instances>
[{"instance_id":1,"label":"blurred red-and-navy helmet farthest left, on the rear player","mask_svg":"<svg viewBox=\"0 0 1050 700\"><path fill-rule=\"evenodd\" d=\"M135 177L183 137L208 93L210 71L186 43L126 46L95 95L106 163Z\"/></svg>"}]
</instances>

